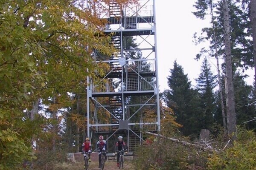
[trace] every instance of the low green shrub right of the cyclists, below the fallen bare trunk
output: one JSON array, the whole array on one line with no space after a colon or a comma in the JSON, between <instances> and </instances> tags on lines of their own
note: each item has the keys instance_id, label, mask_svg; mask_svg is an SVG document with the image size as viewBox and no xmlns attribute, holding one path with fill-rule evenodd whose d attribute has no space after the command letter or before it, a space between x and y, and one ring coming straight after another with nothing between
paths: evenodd
<instances>
[{"instance_id":1,"label":"low green shrub right of the cyclists, below the fallen bare trunk","mask_svg":"<svg viewBox=\"0 0 256 170\"><path fill-rule=\"evenodd\" d=\"M207 162L207 156L198 154L195 148L167 139L140 146L135 154L136 170L204 170Z\"/></svg>"}]
</instances>

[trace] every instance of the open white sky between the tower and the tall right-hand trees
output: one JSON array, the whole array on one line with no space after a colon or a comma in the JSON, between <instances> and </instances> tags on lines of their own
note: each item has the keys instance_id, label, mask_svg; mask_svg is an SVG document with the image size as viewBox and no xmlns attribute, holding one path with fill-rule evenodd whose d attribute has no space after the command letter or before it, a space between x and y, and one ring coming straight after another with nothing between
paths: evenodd
<instances>
[{"instance_id":1,"label":"open white sky between the tower and the tall right-hand trees","mask_svg":"<svg viewBox=\"0 0 256 170\"><path fill-rule=\"evenodd\" d=\"M200 74L201 61L196 61L195 55L207 44L195 46L192 42L195 32L201 33L201 28L209 25L208 21L197 19L192 11L195 0L156 0L156 23L157 23L157 59L160 91L168 89L167 76L173 62L184 68L192 85L196 85L195 78ZM201 59L202 60L202 59ZM210 58L212 71L216 60ZM249 85L253 83L254 71L248 71L250 78L246 79Z\"/></svg>"}]
</instances>

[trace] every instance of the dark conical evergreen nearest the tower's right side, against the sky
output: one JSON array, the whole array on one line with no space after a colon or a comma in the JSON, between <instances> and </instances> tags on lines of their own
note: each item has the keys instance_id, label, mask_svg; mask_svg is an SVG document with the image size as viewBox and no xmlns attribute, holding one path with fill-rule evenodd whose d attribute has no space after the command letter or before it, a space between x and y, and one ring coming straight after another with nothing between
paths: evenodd
<instances>
[{"instance_id":1,"label":"dark conical evergreen nearest the tower's right side, against the sky","mask_svg":"<svg viewBox=\"0 0 256 170\"><path fill-rule=\"evenodd\" d=\"M191 88L188 75L184 74L183 68L174 62L168 76L169 90L164 91L163 100L169 108L172 108L177 116L177 122L184 135L198 134L200 132L200 107L198 92Z\"/></svg>"}]
</instances>

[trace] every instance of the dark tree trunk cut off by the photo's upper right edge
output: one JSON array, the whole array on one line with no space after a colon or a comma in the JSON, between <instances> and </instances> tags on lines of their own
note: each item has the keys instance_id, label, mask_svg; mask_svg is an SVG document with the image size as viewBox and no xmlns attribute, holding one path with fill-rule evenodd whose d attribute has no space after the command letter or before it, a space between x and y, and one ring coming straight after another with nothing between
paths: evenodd
<instances>
[{"instance_id":1,"label":"dark tree trunk cut off by the photo's upper right edge","mask_svg":"<svg viewBox=\"0 0 256 170\"><path fill-rule=\"evenodd\" d=\"M250 20L251 20L252 31L253 31L253 61L254 61L254 71L255 71L254 82L256 82L256 0L250 0Z\"/></svg>"}]
</instances>

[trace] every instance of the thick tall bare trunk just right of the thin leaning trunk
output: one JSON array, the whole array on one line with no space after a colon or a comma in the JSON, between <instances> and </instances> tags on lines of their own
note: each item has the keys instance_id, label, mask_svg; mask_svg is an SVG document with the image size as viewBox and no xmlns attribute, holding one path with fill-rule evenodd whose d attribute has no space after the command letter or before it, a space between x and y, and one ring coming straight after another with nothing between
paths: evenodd
<instances>
[{"instance_id":1,"label":"thick tall bare trunk just right of the thin leaning trunk","mask_svg":"<svg viewBox=\"0 0 256 170\"><path fill-rule=\"evenodd\" d=\"M230 45L230 22L227 0L223 0L224 13L224 39L226 53L226 79L227 79L227 134L236 139L236 112L235 112L235 96L233 86L232 73L232 57Z\"/></svg>"}]
</instances>

